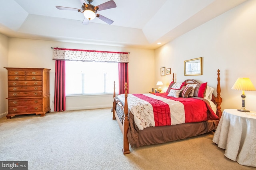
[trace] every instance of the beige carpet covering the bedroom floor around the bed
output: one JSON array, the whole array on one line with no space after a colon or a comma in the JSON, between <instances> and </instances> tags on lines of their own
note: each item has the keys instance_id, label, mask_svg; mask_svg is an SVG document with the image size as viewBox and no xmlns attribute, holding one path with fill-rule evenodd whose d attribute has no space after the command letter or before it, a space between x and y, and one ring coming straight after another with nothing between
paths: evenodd
<instances>
[{"instance_id":1,"label":"beige carpet covering the bedroom floor around the bed","mask_svg":"<svg viewBox=\"0 0 256 170\"><path fill-rule=\"evenodd\" d=\"M28 161L29 170L246 170L224 156L213 133L130 149L110 108L0 119L0 160Z\"/></svg>"}]
</instances>

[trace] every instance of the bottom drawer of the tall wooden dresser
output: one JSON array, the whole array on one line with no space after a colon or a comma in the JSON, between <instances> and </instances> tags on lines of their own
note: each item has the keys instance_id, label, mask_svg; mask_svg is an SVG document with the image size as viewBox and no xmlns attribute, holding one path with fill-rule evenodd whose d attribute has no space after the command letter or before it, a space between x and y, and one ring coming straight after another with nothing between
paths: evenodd
<instances>
[{"instance_id":1,"label":"bottom drawer of the tall wooden dresser","mask_svg":"<svg viewBox=\"0 0 256 170\"><path fill-rule=\"evenodd\" d=\"M20 112L38 112L43 111L42 105L39 106L10 106L8 109L8 114L10 113L20 113Z\"/></svg>"}]
</instances>

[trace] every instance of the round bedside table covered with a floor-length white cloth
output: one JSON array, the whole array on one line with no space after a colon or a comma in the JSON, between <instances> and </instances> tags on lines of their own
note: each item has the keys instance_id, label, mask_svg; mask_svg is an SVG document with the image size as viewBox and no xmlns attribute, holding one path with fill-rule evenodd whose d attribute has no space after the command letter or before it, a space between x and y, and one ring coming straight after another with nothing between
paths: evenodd
<instances>
[{"instance_id":1,"label":"round bedside table covered with a floor-length white cloth","mask_svg":"<svg viewBox=\"0 0 256 170\"><path fill-rule=\"evenodd\" d=\"M227 158L256 167L256 112L224 109L212 141Z\"/></svg>"}]
</instances>

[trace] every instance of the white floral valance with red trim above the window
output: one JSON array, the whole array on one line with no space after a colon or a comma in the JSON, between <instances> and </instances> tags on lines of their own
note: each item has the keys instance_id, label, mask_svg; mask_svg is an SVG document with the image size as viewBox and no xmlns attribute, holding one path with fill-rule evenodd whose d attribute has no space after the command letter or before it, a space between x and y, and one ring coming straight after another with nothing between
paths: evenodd
<instances>
[{"instance_id":1,"label":"white floral valance with red trim above the window","mask_svg":"<svg viewBox=\"0 0 256 170\"><path fill-rule=\"evenodd\" d=\"M53 60L128 63L128 53L53 48Z\"/></svg>"}]
</instances>

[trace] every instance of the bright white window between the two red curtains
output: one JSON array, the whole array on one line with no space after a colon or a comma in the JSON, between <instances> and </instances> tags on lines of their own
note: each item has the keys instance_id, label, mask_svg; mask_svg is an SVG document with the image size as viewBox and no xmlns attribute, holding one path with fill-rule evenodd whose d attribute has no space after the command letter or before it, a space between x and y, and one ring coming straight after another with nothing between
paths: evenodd
<instances>
[{"instance_id":1,"label":"bright white window between the two red curtains","mask_svg":"<svg viewBox=\"0 0 256 170\"><path fill-rule=\"evenodd\" d=\"M66 61L66 95L118 92L118 63Z\"/></svg>"}]
</instances>

